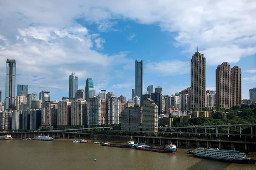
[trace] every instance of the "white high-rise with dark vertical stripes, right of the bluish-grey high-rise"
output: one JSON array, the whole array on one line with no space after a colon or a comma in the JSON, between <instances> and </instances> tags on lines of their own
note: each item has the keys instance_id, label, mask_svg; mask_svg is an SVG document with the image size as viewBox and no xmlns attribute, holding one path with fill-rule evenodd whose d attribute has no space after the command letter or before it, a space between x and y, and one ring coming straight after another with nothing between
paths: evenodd
<instances>
[{"instance_id":1,"label":"white high-rise with dark vertical stripes, right of the bluish-grey high-rise","mask_svg":"<svg viewBox=\"0 0 256 170\"><path fill-rule=\"evenodd\" d=\"M119 99L109 97L106 99L106 124L119 123Z\"/></svg>"}]
</instances>

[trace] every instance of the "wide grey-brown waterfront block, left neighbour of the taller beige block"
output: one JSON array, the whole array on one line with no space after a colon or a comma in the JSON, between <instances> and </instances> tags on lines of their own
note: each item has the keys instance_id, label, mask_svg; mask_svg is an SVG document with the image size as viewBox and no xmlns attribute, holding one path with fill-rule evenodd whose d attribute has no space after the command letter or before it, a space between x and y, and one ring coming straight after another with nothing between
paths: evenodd
<instances>
[{"instance_id":1,"label":"wide grey-brown waterfront block, left neighbour of the taller beige block","mask_svg":"<svg viewBox=\"0 0 256 170\"><path fill-rule=\"evenodd\" d=\"M142 130L143 112L142 107L125 108L121 113L121 130L140 131Z\"/></svg>"}]
</instances>

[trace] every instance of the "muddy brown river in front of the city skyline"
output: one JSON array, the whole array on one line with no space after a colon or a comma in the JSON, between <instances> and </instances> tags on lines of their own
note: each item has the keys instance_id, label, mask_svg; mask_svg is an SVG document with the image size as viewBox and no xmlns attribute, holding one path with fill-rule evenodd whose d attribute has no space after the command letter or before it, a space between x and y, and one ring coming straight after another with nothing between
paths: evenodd
<instances>
[{"instance_id":1,"label":"muddy brown river in front of the city skyline","mask_svg":"<svg viewBox=\"0 0 256 170\"><path fill-rule=\"evenodd\" d=\"M72 140L0 140L0 170L256 170L256 164L194 158L186 151L155 153Z\"/></svg>"}]
</instances>

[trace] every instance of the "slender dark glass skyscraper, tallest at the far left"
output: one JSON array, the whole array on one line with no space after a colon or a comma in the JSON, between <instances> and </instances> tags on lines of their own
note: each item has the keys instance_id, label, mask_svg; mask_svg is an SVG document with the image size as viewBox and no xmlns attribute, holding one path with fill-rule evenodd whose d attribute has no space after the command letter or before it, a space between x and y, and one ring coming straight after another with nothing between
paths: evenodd
<instances>
[{"instance_id":1,"label":"slender dark glass skyscraper, tallest at the far left","mask_svg":"<svg viewBox=\"0 0 256 170\"><path fill-rule=\"evenodd\" d=\"M6 61L6 91L5 91L5 109L15 107L15 77L16 62L15 59L7 59Z\"/></svg>"}]
</instances>

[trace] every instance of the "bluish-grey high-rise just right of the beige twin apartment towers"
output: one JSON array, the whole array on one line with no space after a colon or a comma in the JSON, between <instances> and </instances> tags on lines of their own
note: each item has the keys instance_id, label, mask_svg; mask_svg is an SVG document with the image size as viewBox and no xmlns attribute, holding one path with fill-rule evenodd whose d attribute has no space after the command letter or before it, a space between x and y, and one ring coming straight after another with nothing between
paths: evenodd
<instances>
[{"instance_id":1,"label":"bluish-grey high-rise just right of the beige twin apartment towers","mask_svg":"<svg viewBox=\"0 0 256 170\"><path fill-rule=\"evenodd\" d=\"M101 125L101 100L99 96L88 99L88 125Z\"/></svg>"}]
</instances>

